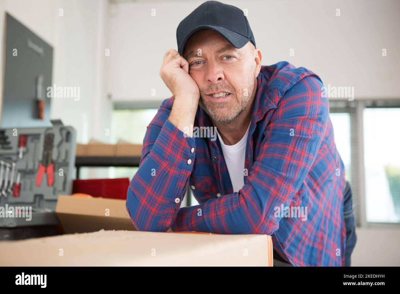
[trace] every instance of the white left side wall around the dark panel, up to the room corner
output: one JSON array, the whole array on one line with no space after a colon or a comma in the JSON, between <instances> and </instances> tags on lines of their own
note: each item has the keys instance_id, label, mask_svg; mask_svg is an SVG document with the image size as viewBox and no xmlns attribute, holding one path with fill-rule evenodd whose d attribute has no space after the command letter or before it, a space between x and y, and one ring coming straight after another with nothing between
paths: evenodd
<instances>
[{"instance_id":1,"label":"white left side wall around the dark panel, up to the room corner","mask_svg":"<svg viewBox=\"0 0 400 294\"><path fill-rule=\"evenodd\" d=\"M1 40L4 40L4 15L8 12L53 46L53 84L80 86L79 101L52 99L51 118L60 118L64 125L74 126L77 141L82 143L91 137L104 142L110 138L105 136L112 109L111 101L106 98L104 76L106 6L106 0L0 2ZM59 16L60 8L64 16ZM2 54L2 46L0 50Z\"/></svg>"}]
</instances>

